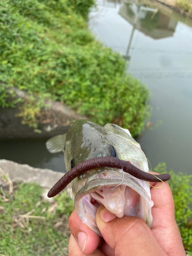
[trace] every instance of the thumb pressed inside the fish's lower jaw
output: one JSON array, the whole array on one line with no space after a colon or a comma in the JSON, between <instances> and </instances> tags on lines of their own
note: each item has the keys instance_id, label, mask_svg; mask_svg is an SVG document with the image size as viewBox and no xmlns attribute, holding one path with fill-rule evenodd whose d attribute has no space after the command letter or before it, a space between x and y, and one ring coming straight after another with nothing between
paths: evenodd
<instances>
[{"instance_id":1,"label":"thumb pressed inside the fish's lower jaw","mask_svg":"<svg viewBox=\"0 0 192 256\"><path fill-rule=\"evenodd\" d=\"M96 224L105 242L115 250L115 255L165 256L151 229L137 218L119 219L103 205L96 212Z\"/></svg>"}]
</instances>

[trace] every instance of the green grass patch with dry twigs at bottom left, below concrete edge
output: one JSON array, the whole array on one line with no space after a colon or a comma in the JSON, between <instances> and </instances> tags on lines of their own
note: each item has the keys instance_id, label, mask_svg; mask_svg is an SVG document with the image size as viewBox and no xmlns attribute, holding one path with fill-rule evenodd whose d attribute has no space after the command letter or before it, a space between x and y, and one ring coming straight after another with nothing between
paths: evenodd
<instances>
[{"instance_id":1,"label":"green grass patch with dry twigs at bottom left, below concrete edge","mask_svg":"<svg viewBox=\"0 0 192 256\"><path fill-rule=\"evenodd\" d=\"M73 210L71 206L73 201L70 199L71 202L67 203L68 208L65 208L65 215L63 215L57 210L56 205L54 207L51 203L42 201L40 195L41 188L38 185L19 183L16 185L14 194L10 197L7 195L9 202L3 202L0 198L0 204L3 207L3 213L1 212L0 215L0 254L6 256L68 255L70 236L68 217ZM69 200L69 196L63 193L62 199L65 202ZM28 223L26 218L19 217L31 210L33 212L30 215L36 216L36 219L29 219ZM59 222L61 222L60 225L58 225Z\"/></svg>"}]
</instances>

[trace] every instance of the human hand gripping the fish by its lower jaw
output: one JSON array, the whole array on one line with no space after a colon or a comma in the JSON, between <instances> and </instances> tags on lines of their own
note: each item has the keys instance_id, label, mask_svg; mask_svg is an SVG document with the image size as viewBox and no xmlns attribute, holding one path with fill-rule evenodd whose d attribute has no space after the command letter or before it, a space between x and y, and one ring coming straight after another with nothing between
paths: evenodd
<instances>
[{"instance_id":1,"label":"human hand gripping the fish by its lower jaw","mask_svg":"<svg viewBox=\"0 0 192 256\"><path fill-rule=\"evenodd\" d=\"M150 184L154 187L162 185L154 182ZM151 187L151 195L154 202L151 229L137 217L124 216L119 219L104 206L100 206L96 212L96 223L103 239L83 224L74 210L69 219L72 232L69 255L185 256L168 183L164 182L158 189Z\"/></svg>"}]
</instances>

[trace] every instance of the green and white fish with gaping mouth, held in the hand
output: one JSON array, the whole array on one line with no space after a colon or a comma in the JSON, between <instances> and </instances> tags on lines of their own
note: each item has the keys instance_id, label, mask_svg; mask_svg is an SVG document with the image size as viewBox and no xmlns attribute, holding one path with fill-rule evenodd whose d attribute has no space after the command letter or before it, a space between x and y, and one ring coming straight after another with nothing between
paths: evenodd
<instances>
[{"instance_id":1,"label":"green and white fish with gaping mouth, held in the hand","mask_svg":"<svg viewBox=\"0 0 192 256\"><path fill-rule=\"evenodd\" d=\"M63 151L67 172L89 159L116 157L148 173L148 163L141 146L129 130L117 124L100 126L89 120L76 120L67 134L49 139L46 146L51 153ZM96 167L72 180L70 196L77 215L99 236L95 214L100 205L115 214L138 217L151 227L153 201L150 185L123 170Z\"/></svg>"}]
</instances>

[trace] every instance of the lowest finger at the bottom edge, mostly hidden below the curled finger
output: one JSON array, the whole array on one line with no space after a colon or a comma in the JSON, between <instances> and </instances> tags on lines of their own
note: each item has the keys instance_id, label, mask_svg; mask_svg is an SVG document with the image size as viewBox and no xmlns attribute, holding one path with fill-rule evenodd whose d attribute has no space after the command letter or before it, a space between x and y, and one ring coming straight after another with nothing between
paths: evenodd
<instances>
[{"instance_id":1,"label":"lowest finger at the bottom edge, mostly hidden below the curled finger","mask_svg":"<svg viewBox=\"0 0 192 256\"><path fill-rule=\"evenodd\" d=\"M69 240L69 256L105 256L102 251L99 249L96 249L93 253L91 254L83 254L81 251L78 242L76 239L73 237L71 234L70 240Z\"/></svg>"}]
</instances>

